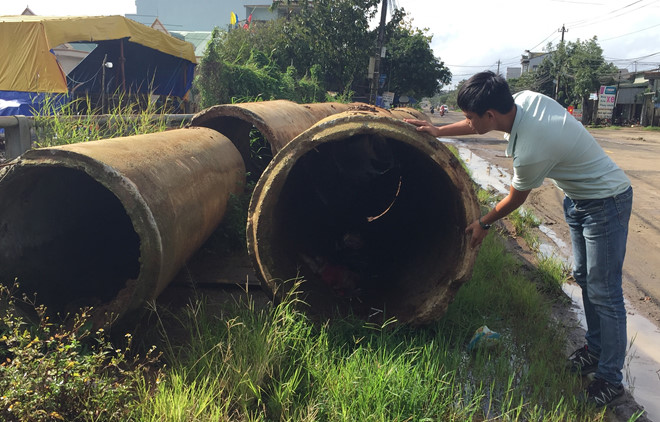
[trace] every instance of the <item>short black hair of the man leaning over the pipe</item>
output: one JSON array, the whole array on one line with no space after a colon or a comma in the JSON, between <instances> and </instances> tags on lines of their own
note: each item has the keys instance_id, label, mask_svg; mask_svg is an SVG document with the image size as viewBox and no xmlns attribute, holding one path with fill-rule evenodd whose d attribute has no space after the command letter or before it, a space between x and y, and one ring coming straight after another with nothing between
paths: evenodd
<instances>
[{"instance_id":1,"label":"short black hair of the man leaning over the pipe","mask_svg":"<svg viewBox=\"0 0 660 422\"><path fill-rule=\"evenodd\" d=\"M513 96L502 76L486 71L477 73L463 84L456 103L462 111L478 116L490 109L506 114L513 107Z\"/></svg>"}]
</instances>

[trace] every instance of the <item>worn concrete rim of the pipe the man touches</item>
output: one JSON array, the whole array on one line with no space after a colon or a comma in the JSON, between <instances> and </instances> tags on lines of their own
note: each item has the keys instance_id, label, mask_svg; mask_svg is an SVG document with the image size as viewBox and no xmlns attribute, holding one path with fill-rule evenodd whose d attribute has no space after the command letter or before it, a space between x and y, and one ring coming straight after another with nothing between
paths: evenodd
<instances>
[{"instance_id":1,"label":"worn concrete rim of the pipe the man touches","mask_svg":"<svg viewBox=\"0 0 660 422\"><path fill-rule=\"evenodd\" d=\"M434 176L444 172L445 175L441 176L451 182L451 187L448 189L453 192L453 198L457 199L456 202L459 203L455 205L458 211L454 211L456 211L456 214L462 213L462 215L456 217L455 221L457 226L462 225L460 233L457 227L451 228L452 236L455 237L454 240L459 243L460 253L456 256L460 255L461 262L449 277L451 280L444 283L442 287L435 286L433 289L444 289L443 291L446 291L448 296L453 297L450 294L455 293L458 287L471 276L472 266L476 259L476 250L469 249L467 239L463 233L467 222L476 219L479 215L478 202L469 175L461 166L460 161L444 145L430 135L417 132L412 125L391 117L354 111L330 116L292 140L271 161L257 183L248 211L247 239L248 252L262 285L274 295L275 292L282 289L283 283L287 282L287 280L282 279L281 271L271 271L272 267L277 267L277 264L273 264L272 252L276 249L285 248L270 244L276 235L272 233L264 235L264 228L268 227L270 231L275 225L274 221L279 218L279 211L275 204L280 196L286 193L283 190L288 178L298 165L298 161L311 151L322 148L324 144L341 142L342 139L354 139L363 135L377 135L385 138L387 142L401 148L400 151L415 156L410 158L411 163L422 163L434 172ZM416 156L417 154L419 154L419 157ZM420 178L421 176L415 174L414 177ZM443 206L442 200L439 198L440 194L434 195L435 204ZM444 206L453 207L454 205ZM274 211L272 214L268 214L262 212L263 210ZM425 212L426 216L432 215L430 210ZM437 248L437 245L430 246ZM279 256L279 258L282 258L282 256ZM408 257L408 259L414 261L414 258ZM425 259L428 261L428 257ZM291 274L290 271L289 275ZM423 294L422 290L425 288L424 286L418 286L417 290L419 292L416 294ZM444 313L451 297L447 301L422 300L424 303L421 303L417 309L403 310L406 306L410 308L410 304L404 304L399 309L400 312L395 313L399 314L397 316L401 321L411 324L425 324L437 319L439 315Z\"/></svg>"}]
</instances>

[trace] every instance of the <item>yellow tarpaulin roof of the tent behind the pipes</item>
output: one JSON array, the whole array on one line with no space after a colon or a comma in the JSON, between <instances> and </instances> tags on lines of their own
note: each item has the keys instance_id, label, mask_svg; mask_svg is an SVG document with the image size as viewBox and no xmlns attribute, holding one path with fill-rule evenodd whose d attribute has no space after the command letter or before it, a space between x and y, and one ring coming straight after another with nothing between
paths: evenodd
<instances>
[{"instance_id":1,"label":"yellow tarpaulin roof of the tent behind the pipes","mask_svg":"<svg viewBox=\"0 0 660 422\"><path fill-rule=\"evenodd\" d=\"M0 90L67 92L51 49L67 42L125 39L197 63L192 44L123 16L0 16Z\"/></svg>"}]
</instances>

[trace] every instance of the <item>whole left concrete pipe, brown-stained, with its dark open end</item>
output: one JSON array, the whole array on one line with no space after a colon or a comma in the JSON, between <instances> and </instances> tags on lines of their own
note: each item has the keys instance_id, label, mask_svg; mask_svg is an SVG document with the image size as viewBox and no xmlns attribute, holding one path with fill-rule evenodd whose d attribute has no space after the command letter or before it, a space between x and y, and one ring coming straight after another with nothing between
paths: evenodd
<instances>
[{"instance_id":1,"label":"whole left concrete pipe, brown-stained, with its dark open end","mask_svg":"<svg viewBox=\"0 0 660 422\"><path fill-rule=\"evenodd\" d=\"M26 152L0 172L0 282L50 310L123 315L155 298L245 184L207 128Z\"/></svg>"}]
</instances>

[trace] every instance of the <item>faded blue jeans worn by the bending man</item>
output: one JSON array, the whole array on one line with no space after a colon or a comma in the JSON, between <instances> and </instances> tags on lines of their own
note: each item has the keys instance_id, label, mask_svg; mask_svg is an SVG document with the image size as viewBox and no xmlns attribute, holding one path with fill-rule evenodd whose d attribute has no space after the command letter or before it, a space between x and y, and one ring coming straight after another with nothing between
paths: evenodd
<instances>
[{"instance_id":1,"label":"faded blue jeans worn by the bending man","mask_svg":"<svg viewBox=\"0 0 660 422\"><path fill-rule=\"evenodd\" d=\"M626 255L632 187L611 198L564 198L571 229L573 276L582 288L587 346L600 356L596 377L619 385L626 356L626 308L621 273Z\"/></svg>"}]
</instances>

